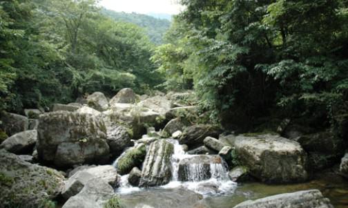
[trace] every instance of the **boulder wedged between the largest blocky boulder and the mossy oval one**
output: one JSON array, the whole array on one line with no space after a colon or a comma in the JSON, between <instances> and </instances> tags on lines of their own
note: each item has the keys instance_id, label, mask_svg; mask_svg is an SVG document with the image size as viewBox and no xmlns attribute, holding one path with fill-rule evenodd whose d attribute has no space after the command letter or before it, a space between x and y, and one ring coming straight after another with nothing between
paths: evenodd
<instances>
[{"instance_id":1,"label":"boulder wedged between the largest blocky boulder and the mossy oval one","mask_svg":"<svg viewBox=\"0 0 348 208\"><path fill-rule=\"evenodd\" d=\"M114 125L107 129L107 142L110 146L110 153L121 155L128 146L133 146L131 137L124 126Z\"/></svg>"}]
</instances>

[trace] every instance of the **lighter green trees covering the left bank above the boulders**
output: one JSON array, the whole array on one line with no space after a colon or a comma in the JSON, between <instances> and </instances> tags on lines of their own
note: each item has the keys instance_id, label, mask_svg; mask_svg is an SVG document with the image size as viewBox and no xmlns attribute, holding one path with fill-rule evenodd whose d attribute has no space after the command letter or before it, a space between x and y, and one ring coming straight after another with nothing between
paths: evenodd
<instances>
[{"instance_id":1,"label":"lighter green trees covering the left bank above the boulders","mask_svg":"<svg viewBox=\"0 0 348 208\"><path fill-rule=\"evenodd\" d=\"M101 15L97 1L1 1L0 22L0 110L162 82L143 29Z\"/></svg>"}]
</instances>

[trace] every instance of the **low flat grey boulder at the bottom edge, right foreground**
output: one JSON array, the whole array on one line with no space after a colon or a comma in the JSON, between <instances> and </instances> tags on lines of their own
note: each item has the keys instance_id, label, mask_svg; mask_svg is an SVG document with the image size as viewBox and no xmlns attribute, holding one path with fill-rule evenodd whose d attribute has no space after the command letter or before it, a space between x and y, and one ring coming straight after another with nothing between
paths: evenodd
<instances>
[{"instance_id":1,"label":"low flat grey boulder at the bottom edge, right foreground","mask_svg":"<svg viewBox=\"0 0 348 208\"><path fill-rule=\"evenodd\" d=\"M334 208L328 198L324 198L319 190L282 193L276 196L247 200L234 208Z\"/></svg>"}]
</instances>

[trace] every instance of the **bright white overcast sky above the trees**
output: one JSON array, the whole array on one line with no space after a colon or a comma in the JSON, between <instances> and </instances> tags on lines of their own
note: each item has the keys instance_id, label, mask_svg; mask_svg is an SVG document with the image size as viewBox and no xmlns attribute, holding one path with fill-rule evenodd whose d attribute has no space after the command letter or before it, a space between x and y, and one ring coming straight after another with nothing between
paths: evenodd
<instances>
[{"instance_id":1,"label":"bright white overcast sky above the trees","mask_svg":"<svg viewBox=\"0 0 348 208\"><path fill-rule=\"evenodd\" d=\"M137 12L141 14L165 13L177 15L181 6L177 0L101 0L101 6L117 12Z\"/></svg>"}]
</instances>

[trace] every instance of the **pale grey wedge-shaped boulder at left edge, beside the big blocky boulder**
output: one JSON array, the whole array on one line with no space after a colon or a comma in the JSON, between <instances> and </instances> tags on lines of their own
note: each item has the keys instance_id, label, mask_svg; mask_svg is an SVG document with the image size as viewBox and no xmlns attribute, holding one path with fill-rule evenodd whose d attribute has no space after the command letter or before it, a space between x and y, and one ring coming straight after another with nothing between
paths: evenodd
<instances>
[{"instance_id":1,"label":"pale grey wedge-shaped boulder at left edge, beside the big blocky boulder","mask_svg":"<svg viewBox=\"0 0 348 208\"><path fill-rule=\"evenodd\" d=\"M15 154L31 154L36 142L37 131L29 130L16 133L12 135L10 138L7 138L5 141L1 143L0 148L6 149L10 153Z\"/></svg>"}]
</instances>

